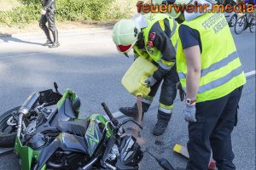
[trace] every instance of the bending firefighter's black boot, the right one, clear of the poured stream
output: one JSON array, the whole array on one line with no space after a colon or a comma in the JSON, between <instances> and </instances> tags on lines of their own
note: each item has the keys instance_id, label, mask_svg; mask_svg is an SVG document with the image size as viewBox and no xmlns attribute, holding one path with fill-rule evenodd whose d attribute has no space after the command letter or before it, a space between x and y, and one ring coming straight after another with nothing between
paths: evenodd
<instances>
[{"instance_id":1,"label":"bending firefighter's black boot, the right one, clear of the poured stream","mask_svg":"<svg viewBox=\"0 0 256 170\"><path fill-rule=\"evenodd\" d=\"M154 126L153 134L154 136L160 136L166 131L166 127L170 122L172 114L161 114L160 111L157 115L157 122Z\"/></svg>"}]
</instances>

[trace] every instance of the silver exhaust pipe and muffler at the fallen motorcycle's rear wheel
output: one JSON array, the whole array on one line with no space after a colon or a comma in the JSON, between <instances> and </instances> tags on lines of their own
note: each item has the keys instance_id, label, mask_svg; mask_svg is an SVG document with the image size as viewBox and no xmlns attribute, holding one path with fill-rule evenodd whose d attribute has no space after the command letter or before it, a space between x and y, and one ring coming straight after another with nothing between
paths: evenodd
<instances>
[{"instance_id":1,"label":"silver exhaust pipe and muffler at the fallen motorcycle's rear wheel","mask_svg":"<svg viewBox=\"0 0 256 170\"><path fill-rule=\"evenodd\" d=\"M18 111L19 113L18 129L17 129L18 138L20 138L23 116L26 116L26 117L30 116L30 111L32 111L32 108L38 103L39 97L40 97L40 94L38 92L32 93L28 96L28 98L23 103L23 105L20 106L20 109Z\"/></svg>"}]
</instances>

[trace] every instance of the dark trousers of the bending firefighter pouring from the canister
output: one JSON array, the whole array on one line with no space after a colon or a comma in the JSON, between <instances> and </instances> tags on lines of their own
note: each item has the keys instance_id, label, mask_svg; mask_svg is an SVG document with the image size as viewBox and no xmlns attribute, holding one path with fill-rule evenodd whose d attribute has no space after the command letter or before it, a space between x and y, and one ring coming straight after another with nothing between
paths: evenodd
<instances>
[{"instance_id":1,"label":"dark trousers of the bending firefighter pouring from the canister","mask_svg":"<svg viewBox=\"0 0 256 170\"><path fill-rule=\"evenodd\" d=\"M161 86L161 92L160 92L160 99L159 103L163 105L172 105L174 99L177 95L177 89L176 84L179 81L179 78L177 76L177 69L176 65L173 65L172 69L168 71L168 73L163 77L163 83ZM155 94L157 93L158 89L160 88L160 84L162 81L156 82L154 86L152 86L150 89L150 93L148 96L154 98ZM150 105L146 105L145 112L148 111ZM171 118L170 114L166 114L163 111L158 111L158 118L165 119L166 121L169 121Z\"/></svg>"}]
</instances>

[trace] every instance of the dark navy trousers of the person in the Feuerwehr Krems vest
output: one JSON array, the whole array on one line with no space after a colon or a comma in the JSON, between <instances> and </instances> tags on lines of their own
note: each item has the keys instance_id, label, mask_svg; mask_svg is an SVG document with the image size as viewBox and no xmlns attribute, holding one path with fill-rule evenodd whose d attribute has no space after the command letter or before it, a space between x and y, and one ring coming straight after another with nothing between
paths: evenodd
<instances>
[{"instance_id":1,"label":"dark navy trousers of the person in the Feuerwehr Krems vest","mask_svg":"<svg viewBox=\"0 0 256 170\"><path fill-rule=\"evenodd\" d=\"M241 88L220 99L196 104L197 122L189 122L187 170L207 170L212 157L218 170L234 170L231 133L237 122Z\"/></svg>"}]
</instances>

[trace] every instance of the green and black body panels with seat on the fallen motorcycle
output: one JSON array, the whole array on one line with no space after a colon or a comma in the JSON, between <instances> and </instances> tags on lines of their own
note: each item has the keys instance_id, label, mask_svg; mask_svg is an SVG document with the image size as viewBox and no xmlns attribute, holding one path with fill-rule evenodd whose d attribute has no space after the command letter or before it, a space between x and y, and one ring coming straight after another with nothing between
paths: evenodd
<instances>
[{"instance_id":1,"label":"green and black body panels with seat on the fallen motorcycle","mask_svg":"<svg viewBox=\"0 0 256 170\"><path fill-rule=\"evenodd\" d=\"M34 145L32 145L33 147L27 145L31 143L22 144L19 138L15 139L15 152L20 156L21 168L23 170L33 169L32 167L36 164L38 164L37 169L47 169L47 162L55 154L55 151L58 150L73 151L76 154L80 153L80 157L83 157L83 155L91 157L96 154L96 150L99 149L97 146L102 141L102 132L107 119L100 114L90 115L84 120L78 119L79 107L73 109L72 106L72 104L75 104L76 99L78 97L72 90L67 89L65 91L57 103L55 114L38 127L37 132L34 133L34 140L39 143L38 145L34 144L37 145L36 147ZM51 120L56 118L57 123L51 124ZM41 142L44 137L37 134L50 130L52 132L58 131L58 135L49 144L46 144L47 142L44 141ZM108 138L111 134L112 132L108 130L106 137ZM51 162L49 166L61 167L62 162L58 163L55 162L54 165Z\"/></svg>"}]
</instances>

